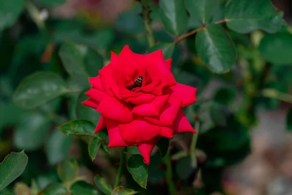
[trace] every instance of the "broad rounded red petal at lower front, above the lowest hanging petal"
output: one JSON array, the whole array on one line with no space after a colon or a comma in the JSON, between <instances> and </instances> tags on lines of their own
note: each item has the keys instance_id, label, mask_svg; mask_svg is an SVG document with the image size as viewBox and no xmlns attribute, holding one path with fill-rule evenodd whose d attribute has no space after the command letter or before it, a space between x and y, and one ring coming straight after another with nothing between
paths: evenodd
<instances>
[{"instance_id":1,"label":"broad rounded red petal at lower front, above the lowest hanging petal","mask_svg":"<svg viewBox=\"0 0 292 195\"><path fill-rule=\"evenodd\" d=\"M153 125L143 117L137 117L130 123L119 124L120 135L129 142L143 142L160 134L161 126Z\"/></svg>"}]
</instances>

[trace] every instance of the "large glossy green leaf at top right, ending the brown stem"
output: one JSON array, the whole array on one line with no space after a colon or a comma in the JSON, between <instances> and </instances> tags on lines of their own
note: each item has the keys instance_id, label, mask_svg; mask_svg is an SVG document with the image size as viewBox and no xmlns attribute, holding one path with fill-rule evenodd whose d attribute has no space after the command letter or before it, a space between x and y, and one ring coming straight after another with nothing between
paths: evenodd
<instances>
[{"instance_id":1,"label":"large glossy green leaf at top right, ending the brown stem","mask_svg":"<svg viewBox=\"0 0 292 195\"><path fill-rule=\"evenodd\" d=\"M271 0L229 0L225 7L227 26L238 33L262 29L268 33L280 30L283 12L278 12Z\"/></svg>"}]
</instances>

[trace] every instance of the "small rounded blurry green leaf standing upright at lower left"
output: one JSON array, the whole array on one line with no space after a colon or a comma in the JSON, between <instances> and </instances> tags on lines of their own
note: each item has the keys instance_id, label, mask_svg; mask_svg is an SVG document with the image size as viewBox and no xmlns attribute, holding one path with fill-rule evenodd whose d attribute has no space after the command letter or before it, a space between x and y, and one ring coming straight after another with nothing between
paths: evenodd
<instances>
[{"instance_id":1,"label":"small rounded blurry green leaf standing upright at lower left","mask_svg":"<svg viewBox=\"0 0 292 195\"><path fill-rule=\"evenodd\" d=\"M79 167L75 160L65 160L58 165L57 171L63 182L70 182L77 177Z\"/></svg>"}]
</instances>

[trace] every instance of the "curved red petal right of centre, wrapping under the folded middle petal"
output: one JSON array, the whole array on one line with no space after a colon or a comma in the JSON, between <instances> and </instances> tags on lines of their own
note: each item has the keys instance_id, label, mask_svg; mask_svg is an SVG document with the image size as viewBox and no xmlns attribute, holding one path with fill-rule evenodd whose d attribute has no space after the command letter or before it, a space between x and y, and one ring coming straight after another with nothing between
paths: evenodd
<instances>
[{"instance_id":1,"label":"curved red petal right of centre, wrapping under the folded middle petal","mask_svg":"<svg viewBox=\"0 0 292 195\"><path fill-rule=\"evenodd\" d=\"M171 125L181 108L182 101L178 98L169 97L169 101L164 105L161 113L157 117L144 117L155 125L168 126Z\"/></svg>"}]
</instances>

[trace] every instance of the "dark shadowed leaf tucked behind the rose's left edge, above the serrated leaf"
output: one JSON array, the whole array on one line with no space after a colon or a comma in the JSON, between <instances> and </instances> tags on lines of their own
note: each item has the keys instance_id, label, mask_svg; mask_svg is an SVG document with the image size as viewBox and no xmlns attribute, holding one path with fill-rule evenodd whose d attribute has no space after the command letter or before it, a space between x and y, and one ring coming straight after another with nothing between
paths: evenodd
<instances>
[{"instance_id":1,"label":"dark shadowed leaf tucked behind the rose's left edge, above the serrated leaf","mask_svg":"<svg viewBox=\"0 0 292 195\"><path fill-rule=\"evenodd\" d=\"M88 89L82 91L77 99L76 116L79 119L90 120L93 122L93 124L97 124L100 118L100 112L96 112L95 109L81 104L81 102L88 99L88 96L85 95L87 91Z\"/></svg>"}]
</instances>

